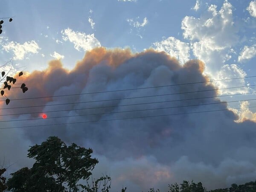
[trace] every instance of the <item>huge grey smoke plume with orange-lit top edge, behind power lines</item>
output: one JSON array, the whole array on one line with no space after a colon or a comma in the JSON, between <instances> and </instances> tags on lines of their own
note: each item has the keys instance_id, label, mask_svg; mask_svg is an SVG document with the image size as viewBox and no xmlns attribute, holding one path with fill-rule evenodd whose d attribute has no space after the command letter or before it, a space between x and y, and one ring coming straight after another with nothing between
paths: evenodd
<instances>
[{"instance_id":1,"label":"huge grey smoke plume with orange-lit top edge, behind power lines","mask_svg":"<svg viewBox=\"0 0 256 192\"><path fill-rule=\"evenodd\" d=\"M164 52L146 50L132 54L128 49L96 48L87 52L71 71L64 69L61 61L55 60L49 62L49 67L44 71L25 74L19 81L25 81L29 91L23 95L19 89L13 89L9 93L11 102L8 107L34 105L42 105L42 107L4 109L1 114L29 114L1 116L1 120L40 118L40 113L34 113L38 111L94 109L49 112L48 117L76 116L2 122L0 126L47 125L227 109L226 103L201 105L220 102L218 98L214 98L217 96L216 91L125 99L215 89L210 83L157 87L207 81L207 77L202 75L203 72L204 63L201 61L191 60L180 65L175 58ZM12 99L24 97L58 96L153 86L155 88L12 101ZM199 97L211 98L186 100ZM107 99L119 100L93 102ZM163 102L170 100L182 101ZM86 103L47 106L74 102ZM147 102L159 103L121 106ZM134 111L186 105L198 106ZM104 106L117 107L95 108ZM2 105L1 108L6 106ZM134 112L111 113L120 111ZM84 116L91 113L104 114ZM12 143L10 137L14 138L15 143L1 148L1 151L5 154L9 154L6 151L12 151L15 154L15 151L22 151L20 148L23 148L23 151L24 148L28 148L28 143L29 145L41 143L47 137L56 135L66 143L74 142L86 148L93 148L100 162L94 174L100 176L102 172L109 173L113 179L113 191L119 190L122 185L127 185L129 191L134 192L146 191L150 187L166 190L168 183L181 182L183 179L201 181L207 189L227 187L231 183L255 180L256 177L256 124L250 121L236 123L234 122L236 119L237 116L232 111L218 111L6 129L0 130L1 143ZM6 134L9 136L5 137ZM16 140L16 138L20 139ZM25 156L26 152L24 152ZM14 161L13 156L8 158ZM16 164L14 168L21 166L23 165Z\"/></svg>"}]
</instances>

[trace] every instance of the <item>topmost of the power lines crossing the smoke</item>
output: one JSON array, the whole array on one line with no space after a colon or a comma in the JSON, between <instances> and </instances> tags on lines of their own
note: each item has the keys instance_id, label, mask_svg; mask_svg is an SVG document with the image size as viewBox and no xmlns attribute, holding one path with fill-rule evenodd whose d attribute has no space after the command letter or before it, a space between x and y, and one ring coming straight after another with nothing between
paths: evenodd
<instances>
[{"instance_id":1,"label":"topmost of the power lines crossing the smoke","mask_svg":"<svg viewBox=\"0 0 256 192\"><path fill-rule=\"evenodd\" d=\"M51 97L63 97L63 96L76 96L76 95L86 95L86 94L95 94L95 93L110 93L110 92L117 92L117 91L141 90L141 89L151 89L151 88L158 88L158 87L172 87L172 86L178 86L178 85L209 83L209 82L215 82L215 81L227 81L227 80L246 79L246 78L253 78L253 77L256 77L256 76L239 77L239 78L231 78L231 79L218 79L218 80L201 81L201 82L193 82L193 83L171 84L171 85L162 85L162 86L153 86L153 87L140 87L140 88L133 88L133 89L99 91L99 92L91 92L91 93L77 93L77 94L70 94L70 95L30 97L30 98L22 98L22 99L12 99L12 101L15 101L15 100L25 100L25 99L42 99L42 98L51 98ZM0 100L0 102L5 102L5 100Z\"/></svg>"}]
</instances>

